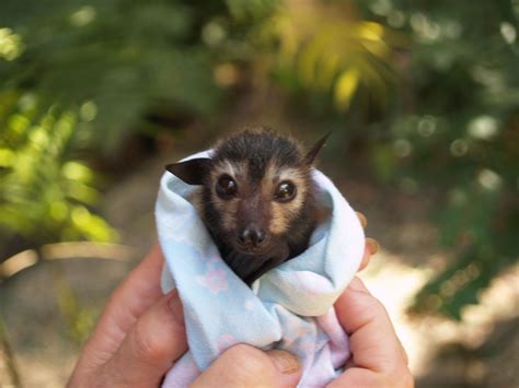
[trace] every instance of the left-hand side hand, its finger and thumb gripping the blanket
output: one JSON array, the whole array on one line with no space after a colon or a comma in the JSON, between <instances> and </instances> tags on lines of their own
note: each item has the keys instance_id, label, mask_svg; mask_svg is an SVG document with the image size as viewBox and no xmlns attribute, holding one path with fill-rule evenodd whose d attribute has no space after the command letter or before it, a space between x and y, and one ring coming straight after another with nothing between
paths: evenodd
<instances>
[{"instance_id":1,"label":"left-hand side hand, its finger and thumb gripping the blanket","mask_svg":"<svg viewBox=\"0 0 519 388\"><path fill-rule=\"evenodd\" d=\"M162 264L157 246L112 294L69 388L159 387L187 351L178 295L160 289Z\"/></svg>"}]
</instances>

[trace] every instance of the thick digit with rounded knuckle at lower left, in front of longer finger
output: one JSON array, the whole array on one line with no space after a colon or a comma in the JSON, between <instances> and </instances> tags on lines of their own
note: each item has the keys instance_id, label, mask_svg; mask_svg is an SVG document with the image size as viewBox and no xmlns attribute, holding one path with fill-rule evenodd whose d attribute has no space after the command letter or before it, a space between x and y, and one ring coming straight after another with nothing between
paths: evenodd
<instances>
[{"instance_id":1,"label":"thick digit with rounded knuckle at lower left, in front of longer finger","mask_svg":"<svg viewBox=\"0 0 519 388\"><path fill-rule=\"evenodd\" d=\"M186 351L182 305L174 291L137 320L103 367L101 386L157 387Z\"/></svg>"}]
</instances>

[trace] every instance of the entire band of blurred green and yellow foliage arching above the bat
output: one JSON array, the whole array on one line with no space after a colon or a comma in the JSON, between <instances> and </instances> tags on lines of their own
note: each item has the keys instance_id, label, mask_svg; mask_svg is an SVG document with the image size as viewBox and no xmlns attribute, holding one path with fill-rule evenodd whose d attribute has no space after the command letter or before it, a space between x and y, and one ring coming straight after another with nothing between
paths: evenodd
<instances>
[{"instance_id":1,"label":"entire band of blurred green and yellow foliage arching above the bat","mask_svg":"<svg viewBox=\"0 0 519 388\"><path fill-rule=\"evenodd\" d=\"M233 87L274 84L298 116L360 140L380 183L436 193L452 260L415 310L459 318L518 258L517 0L0 8L0 225L11 234L113 238L91 212L85 151L113 154L129 132L153 137L185 117L211 122Z\"/></svg>"}]
</instances>

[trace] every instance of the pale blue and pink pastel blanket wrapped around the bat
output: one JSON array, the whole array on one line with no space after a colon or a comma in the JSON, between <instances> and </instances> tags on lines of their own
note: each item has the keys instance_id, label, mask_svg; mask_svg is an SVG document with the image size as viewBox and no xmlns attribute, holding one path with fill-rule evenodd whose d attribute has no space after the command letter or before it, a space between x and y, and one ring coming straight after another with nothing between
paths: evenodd
<instances>
[{"instance_id":1,"label":"pale blue and pink pastel blanket wrapped around the bat","mask_svg":"<svg viewBox=\"0 0 519 388\"><path fill-rule=\"evenodd\" d=\"M165 257L162 290L178 290L189 351L168 373L163 387L188 386L237 343L295 353L303 366L299 387L323 387L343 371L348 339L333 304L359 267L365 236L333 183L316 169L312 174L320 188L318 201L331 216L315 230L303 254L265 273L252 287L221 259L189 202L198 188L164 174L155 205Z\"/></svg>"}]
</instances>

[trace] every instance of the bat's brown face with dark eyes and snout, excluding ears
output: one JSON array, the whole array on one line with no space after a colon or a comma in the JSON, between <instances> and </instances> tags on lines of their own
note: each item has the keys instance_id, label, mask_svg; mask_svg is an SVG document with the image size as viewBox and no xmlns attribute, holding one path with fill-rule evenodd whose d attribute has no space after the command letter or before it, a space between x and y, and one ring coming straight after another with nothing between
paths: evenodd
<instances>
[{"instance_id":1,"label":"bat's brown face with dark eyes and snout, excluding ears","mask_svg":"<svg viewBox=\"0 0 519 388\"><path fill-rule=\"evenodd\" d=\"M220 234L238 251L276 250L308 197L310 168L277 160L216 158L205 199Z\"/></svg>"}]
</instances>

